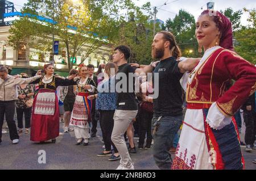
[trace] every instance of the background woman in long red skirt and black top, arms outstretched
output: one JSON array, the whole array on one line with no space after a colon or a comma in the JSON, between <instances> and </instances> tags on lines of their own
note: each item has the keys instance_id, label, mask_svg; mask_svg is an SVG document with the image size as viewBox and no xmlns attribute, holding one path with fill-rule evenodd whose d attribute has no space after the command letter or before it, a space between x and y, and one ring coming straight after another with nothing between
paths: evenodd
<instances>
[{"instance_id":1,"label":"background woman in long red skirt and black top, arms outstretched","mask_svg":"<svg viewBox=\"0 0 256 181\"><path fill-rule=\"evenodd\" d=\"M53 75L54 68L51 64L44 65L44 73L46 74L44 77L33 82L39 83L39 92L32 106L30 140L39 142L52 140L55 143L56 137L59 136L60 125L56 88L75 85L76 82Z\"/></svg>"}]
</instances>

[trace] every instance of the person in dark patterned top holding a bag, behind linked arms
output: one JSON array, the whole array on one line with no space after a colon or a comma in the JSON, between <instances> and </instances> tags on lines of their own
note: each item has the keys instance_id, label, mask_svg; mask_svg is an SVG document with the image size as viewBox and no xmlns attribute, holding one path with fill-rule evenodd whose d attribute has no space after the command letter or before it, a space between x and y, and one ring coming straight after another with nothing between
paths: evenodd
<instances>
[{"instance_id":1,"label":"person in dark patterned top holding a bag, behind linked arms","mask_svg":"<svg viewBox=\"0 0 256 181\"><path fill-rule=\"evenodd\" d=\"M26 73L20 74L22 78L28 78ZM29 133L31 112L34 96L34 85L23 84L18 85L18 99L16 100L16 114L18 120L18 133L23 132L23 114L25 117L25 133Z\"/></svg>"}]
</instances>

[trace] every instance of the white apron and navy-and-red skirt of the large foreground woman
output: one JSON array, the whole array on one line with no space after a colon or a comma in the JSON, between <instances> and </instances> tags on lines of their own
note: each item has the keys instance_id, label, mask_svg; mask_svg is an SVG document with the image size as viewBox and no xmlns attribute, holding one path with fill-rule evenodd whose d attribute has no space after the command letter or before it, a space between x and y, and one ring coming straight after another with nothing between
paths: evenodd
<instances>
[{"instance_id":1,"label":"white apron and navy-and-red skirt of the large foreground woman","mask_svg":"<svg viewBox=\"0 0 256 181\"><path fill-rule=\"evenodd\" d=\"M188 109L172 169L243 169L244 160L236 120L215 130L207 124L208 109Z\"/></svg>"}]
</instances>

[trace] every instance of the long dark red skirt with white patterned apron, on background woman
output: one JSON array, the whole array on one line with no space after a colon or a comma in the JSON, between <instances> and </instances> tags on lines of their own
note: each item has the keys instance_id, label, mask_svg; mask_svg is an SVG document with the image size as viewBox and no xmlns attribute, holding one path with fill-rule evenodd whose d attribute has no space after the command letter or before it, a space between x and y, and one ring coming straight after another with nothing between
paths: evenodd
<instances>
[{"instance_id":1,"label":"long dark red skirt with white patterned apron, on background woman","mask_svg":"<svg viewBox=\"0 0 256 181\"><path fill-rule=\"evenodd\" d=\"M59 136L59 104L54 90L40 89L31 117L31 141L47 141Z\"/></svg>"}]
</instances>

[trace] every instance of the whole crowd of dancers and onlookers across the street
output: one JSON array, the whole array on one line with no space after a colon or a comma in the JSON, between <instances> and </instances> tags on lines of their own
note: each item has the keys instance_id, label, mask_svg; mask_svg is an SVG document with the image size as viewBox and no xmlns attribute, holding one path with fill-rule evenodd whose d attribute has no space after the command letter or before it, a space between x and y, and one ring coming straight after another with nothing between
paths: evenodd
<instances>
[{"instance_id":1,"label":"whole crowd of dancers and onlookers across the street","mask_svg":"<svg viewBox=\"0 0 256 181\"><path fill-rule=\"evenodd\" d=\"M119 45L113 62L100 65L96 75L93 65L84 64L67 78L55 75L51 64L31 78L11 76L1 66L0 142L5 116L10 139L18 144L24 113L31 141L55 143L64 113L64 132L75 132L76 145L89 145L99 120L105 149L97 156L120 160L117 170L134 169L134 128L138 149L152 145L159 169L245 169L239 116L242 107L246 151L251 151L256 148L256 68L234 52L232 25L221 12L203 11L195 35L199 51L204 49L201 58L181 57L175 36L161 31L152 43L152 58L159 61L128 64L131 50Z\"/></svg>"}]
</instances>

